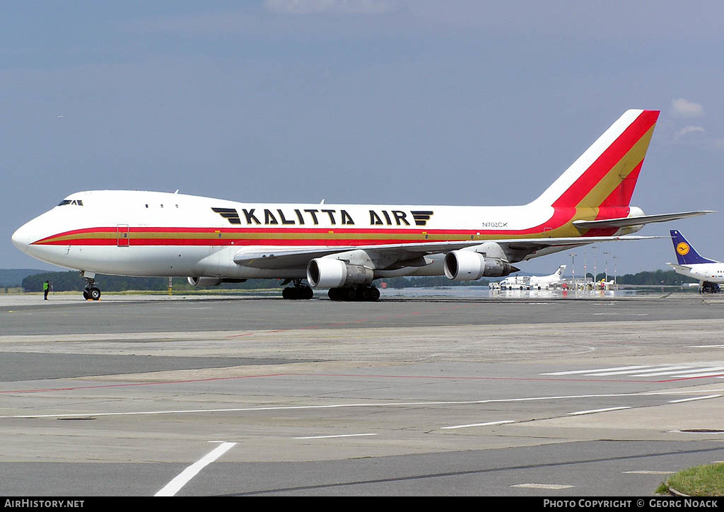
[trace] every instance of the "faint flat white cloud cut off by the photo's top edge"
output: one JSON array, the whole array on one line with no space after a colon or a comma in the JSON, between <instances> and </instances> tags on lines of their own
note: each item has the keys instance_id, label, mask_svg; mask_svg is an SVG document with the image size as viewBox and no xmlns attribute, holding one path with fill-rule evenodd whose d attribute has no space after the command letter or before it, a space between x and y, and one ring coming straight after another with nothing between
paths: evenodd
<instances>
[{"instance_id":1,"label":"faint flat white cloud cut off by the photo's top edge","mask_svg":"<svg viewBox=\"0 0 724 512\"><path fill-rule=\"evenodd\" d=\"M386 14L402 7L400 0L264 0L277 14Z\"/></svg>"}]
</instances>

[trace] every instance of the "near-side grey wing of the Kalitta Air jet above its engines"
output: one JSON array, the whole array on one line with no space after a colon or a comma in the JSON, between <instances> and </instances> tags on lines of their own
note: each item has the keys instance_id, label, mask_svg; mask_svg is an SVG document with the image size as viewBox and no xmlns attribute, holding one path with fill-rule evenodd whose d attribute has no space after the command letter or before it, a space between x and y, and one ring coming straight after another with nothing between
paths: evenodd
<instances>
[{"instance_id":1,"label":"near-side grey wing of the Kalitta Air jet above its engines","mask_svg":"<svg viewBox=\"0 0 724 512\"><path fill-rule=\"evenodd\" d=\"M372 259L384 257L387 261L396 260L405 266L421 267L427 264L423 256L441 254L493 242L500 245L505 253L530 254L550 247L577 247L589 243L623 240L649 240L664 238L655 236L607 236L607 237L571 237L571 238L511 238L509 240L465 240L456 242L395 243L384 245L358 245L345 247L300 247L275 248L256 247L242 249L234 256L234 262L243 267L256 269L296 269L303 268L315 258L347 251L362 250L370 253ZM515 261L520 261L516 259Z\"/></svg>"}]
</instances>

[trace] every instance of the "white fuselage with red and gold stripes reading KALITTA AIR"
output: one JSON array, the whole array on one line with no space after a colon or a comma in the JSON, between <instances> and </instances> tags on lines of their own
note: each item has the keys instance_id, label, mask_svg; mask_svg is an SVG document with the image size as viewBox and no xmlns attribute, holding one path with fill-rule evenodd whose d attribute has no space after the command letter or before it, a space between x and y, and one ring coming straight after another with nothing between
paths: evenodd
<instances>
[{"instance_id":1,"label":"white fuselage with red and gold stripes reading KALITTA AIR","mask_svg":"<svg viewBox=\"0 0 724 512\"><path fill-rule=\"evenodd\" d=\"M177 193L95 190L68 196L20 227L13 242L42 261L102 274L303 278L303 266L259 269L234 259L260 248L580 236L570 221L595 216L587 210L554 209L536 201L524 206L237 203ZM511 261L559 250L544 248ZM440 275L442 256L433 256L433 264L424 267L377 274Z\"/></svg>"}]
</instances>

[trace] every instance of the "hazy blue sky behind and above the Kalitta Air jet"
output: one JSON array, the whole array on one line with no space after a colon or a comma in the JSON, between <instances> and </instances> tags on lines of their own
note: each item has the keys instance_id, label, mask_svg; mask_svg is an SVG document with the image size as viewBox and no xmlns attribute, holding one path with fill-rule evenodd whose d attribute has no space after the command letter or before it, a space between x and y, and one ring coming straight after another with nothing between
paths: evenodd
<instances>
[{"instance_id":1,"label":"hazy blue sky behind and above the Kalitta Air jet","mask_svg":"<svg viewBox=\"0 0 724 512\"><path fill-rule=\"evenodd\" d=\"M0 268L49 268L10 235L77 190L526 203L629 108L662 111L632 203L724 214L723 14L716 1L4 3ZM722 214L639 234L677 228L724 259ZM673 259L667 239L599 251L619 273Z\"/></svg>"}]
</instances>

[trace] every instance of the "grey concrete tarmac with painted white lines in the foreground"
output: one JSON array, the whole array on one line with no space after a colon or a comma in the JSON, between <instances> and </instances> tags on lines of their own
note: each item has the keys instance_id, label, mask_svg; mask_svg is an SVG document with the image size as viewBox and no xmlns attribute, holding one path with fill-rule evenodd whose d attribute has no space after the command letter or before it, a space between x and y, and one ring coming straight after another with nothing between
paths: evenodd
<instances>
[{"instance_id":1,"label":"grey concrete tarmac with painted white lines in the foreground","mask_svg":"<svg viewBox=\"0 0 724 512\"><path fill-rule=\"evenodd\" d=\"M723 308L0 296L0 493L650 496L724 461Z\"/></svg>"}]
</instances>

